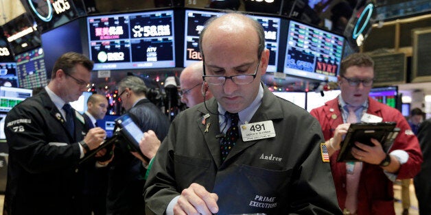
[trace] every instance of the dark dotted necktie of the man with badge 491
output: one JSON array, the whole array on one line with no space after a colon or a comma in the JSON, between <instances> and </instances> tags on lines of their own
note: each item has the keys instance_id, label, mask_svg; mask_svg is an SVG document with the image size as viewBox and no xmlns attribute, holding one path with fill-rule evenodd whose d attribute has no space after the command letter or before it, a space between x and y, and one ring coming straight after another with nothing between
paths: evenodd
<instances>
[{"instance_id":1,"label":"dark dotted necktie of the man with badge 491","mask_svg":"<svg viewBox=\"0 0 431 215\"><path fill-rule=\"evenodd\" d=\"M235 146L235 142L237 142L237 139L240 136L238 133L238 121L240 120L238 113L232 114L226 112L226 116L230 119L231 126L227 129L226 136L223 138L220 148L222 152L222 162L224 162L229 151L231 151L232 147Z\"/></svg>"}]
</instances>

